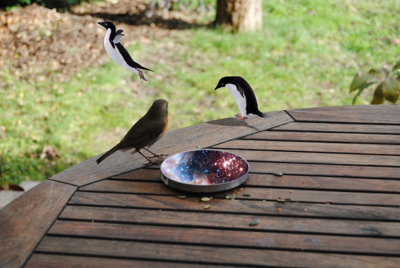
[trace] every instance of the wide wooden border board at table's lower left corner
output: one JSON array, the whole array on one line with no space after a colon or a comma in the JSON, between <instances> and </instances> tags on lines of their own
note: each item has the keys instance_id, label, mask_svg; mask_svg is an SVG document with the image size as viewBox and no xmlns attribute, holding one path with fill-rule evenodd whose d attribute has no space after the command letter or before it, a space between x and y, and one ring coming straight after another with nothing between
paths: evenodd
<instances>
[{"instance_id":1,"label":"wide wooden border board at table's lower left corner","mask_svg":"<svg viewBox=\"0 0 400 268\"><path fill-rule=\"evenodd\" d=\"M0 209L0 267L22 265L75 189L45 180Z\"/></svg>"}]
</instances>

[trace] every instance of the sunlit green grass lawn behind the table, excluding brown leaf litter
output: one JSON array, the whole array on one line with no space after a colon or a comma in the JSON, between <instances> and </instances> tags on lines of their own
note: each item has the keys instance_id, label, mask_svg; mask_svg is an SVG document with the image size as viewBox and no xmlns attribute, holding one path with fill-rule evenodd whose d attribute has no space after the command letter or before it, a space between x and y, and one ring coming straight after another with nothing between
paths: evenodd
<instances>
[{"instance_id":1,"label":"sunlit green grass lawn behind the table, excluding brown leaf litter","mask_svg":"<svg viewBox=\"0 0 400 268\"><path fill-rule=\"evenodd\" d=\"M134 59L156 71L145 72L148 82L112 61L57 84L51 77L19 81L4 70L10 86L0 89L3 176L12 183L45 179L109 149L156 98L169 101L168 130L232 116L238 109L229 91L213 90L225 75L244 77L263 111L345 105L356 72L398 60L400 45L390 40L400 38L399 0L262 2L263 29L256 33L198 27L129 46ZM364 92L356 104L370 99ZM40 160L46 144L61 157Z\"/></svg>"}]
</instances>

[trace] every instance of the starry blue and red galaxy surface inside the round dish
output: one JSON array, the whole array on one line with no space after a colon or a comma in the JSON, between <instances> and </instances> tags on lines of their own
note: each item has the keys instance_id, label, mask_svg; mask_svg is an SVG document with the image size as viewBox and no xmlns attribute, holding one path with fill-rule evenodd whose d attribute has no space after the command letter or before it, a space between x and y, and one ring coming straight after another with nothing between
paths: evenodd
<instances>
[{"instance_id":1,"label":"starry blue and red galaxy surface inside the round dish","mask_svg":"<svg viewBox=\"0 0 400 268\"><path fill-rule=\"evenodd\" d=\"M194 184L214 185L242 177L248 163L240 156L220 150L192 150L166 158L161 172L172 180Z\"/></svg>"}]
</instances>

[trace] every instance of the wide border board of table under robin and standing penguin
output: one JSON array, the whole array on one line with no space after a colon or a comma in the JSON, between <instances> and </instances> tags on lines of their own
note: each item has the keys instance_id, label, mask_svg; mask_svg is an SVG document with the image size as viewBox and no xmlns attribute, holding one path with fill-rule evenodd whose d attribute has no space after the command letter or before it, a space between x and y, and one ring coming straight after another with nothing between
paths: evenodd
<instances>
[{"instance_id":1,"label":"wide border board of table under robin and standing penguin","mask_svg":"<svg viewBox=\"0 0 400 268\"><path fill-rule=\"evenodd\" d=\"M169 131L153 146L155 153L174 154L190 149L212 146L220 142L265 130L276 125L292 121L285 111L268 113L272 118L251 116L246 121L234 118L218 119ZM51 179L82 186L112 175L140 168L147 163L138 153L117 151L100 164L95 160L99 155L80 162L54 176Z\"/></svg>"}]
</instances>

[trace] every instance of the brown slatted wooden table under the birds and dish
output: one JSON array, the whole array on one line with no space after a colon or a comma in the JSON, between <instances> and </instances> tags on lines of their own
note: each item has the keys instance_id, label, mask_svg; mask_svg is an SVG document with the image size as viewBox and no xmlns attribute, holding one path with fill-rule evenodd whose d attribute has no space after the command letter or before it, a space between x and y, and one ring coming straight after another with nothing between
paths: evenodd
<instances>
[{"instance_id":1,"label":"brown slatted wooden table under the birds and dish","mask_svg":"<svg viewBox=\"0 0 400 268\"><path fill-rule=\"evenodd\" d=\"M250 175L228 191L234 200L205 194L204 210L137 153L92 157L0 210L0 266L400 267L400 106L268 114L169 131L152 146L243 156Z\"/></svg>"}]
</instances>

